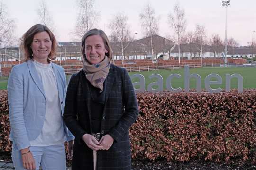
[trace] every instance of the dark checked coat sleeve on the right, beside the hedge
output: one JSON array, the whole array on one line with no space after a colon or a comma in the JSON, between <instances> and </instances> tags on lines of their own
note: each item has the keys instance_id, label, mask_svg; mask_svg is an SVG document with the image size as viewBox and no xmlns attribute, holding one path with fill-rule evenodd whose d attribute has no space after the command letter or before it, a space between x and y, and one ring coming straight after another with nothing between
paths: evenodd
<instances>
[{"instance_id":1,"label":"dark checked coat sleeve on the right, beside the hedge","mask_svg":"<svg viewBox=\"0 0 256 170\"><path fill-rule=\"evenodd\" d=\"M135 122L138 116L136 94L130 76L125 69L122 75L122 85L122 100L125 112L119 122L109 132L109 135L112 136L117 142L120 141L123 136L127 135L129 128Z\"/></svg>"}]
</instances>

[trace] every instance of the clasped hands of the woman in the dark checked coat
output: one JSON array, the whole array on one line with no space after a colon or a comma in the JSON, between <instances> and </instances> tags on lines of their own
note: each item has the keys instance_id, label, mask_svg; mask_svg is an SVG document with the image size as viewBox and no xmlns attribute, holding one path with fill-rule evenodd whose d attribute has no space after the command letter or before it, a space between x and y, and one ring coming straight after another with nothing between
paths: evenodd
<instances>
[{"instance_id":1,"label":"clasped hands of the woman in the dark checked coat","mask_svg":"<svg viewBox=\"0 0 256 170\"><path fill-rule=\"evenodd\" d=\"M82 139L87 146L94 151L108 150L114 142L114 139L108 134L102 136L100 141L97 141L95 137L90 134L83 135Z\"/></svg>"}]
</instances>

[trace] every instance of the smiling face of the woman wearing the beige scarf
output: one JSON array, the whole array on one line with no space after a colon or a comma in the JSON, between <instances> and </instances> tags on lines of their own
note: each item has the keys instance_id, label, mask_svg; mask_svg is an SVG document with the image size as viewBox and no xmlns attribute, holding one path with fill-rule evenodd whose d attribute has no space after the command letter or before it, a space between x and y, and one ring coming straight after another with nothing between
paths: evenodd
<instances>
[{"instance_id":1,"label":"smiling face of the woman wearing the beige scarf","mask_svg":"<svg viewBox=\"0 0 256 170\"><path fill-rule=\"evenodd\" d=\"M89 63L98 64L104 59L107 52L100 35L92 35L85 39L84 53Z\"/></svg>"}]
</instances>

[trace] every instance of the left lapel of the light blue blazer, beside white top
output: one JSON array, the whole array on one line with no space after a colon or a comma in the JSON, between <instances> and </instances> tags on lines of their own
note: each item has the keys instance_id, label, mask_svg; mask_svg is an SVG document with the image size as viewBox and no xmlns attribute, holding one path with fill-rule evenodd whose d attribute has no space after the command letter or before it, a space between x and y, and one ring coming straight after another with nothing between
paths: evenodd
<instances>
[{"instance_id":1,"label":"left lapel of the light blue blazer, beside white top","mask_svg":"<svg viewBox=\"0 0 256 170\"><path fill-rule=\"evenodd\" d=\"M39 90L41 91L41 93L44 95L45 99L46 99L46 94L44 91L44 87L43 87L43 83L41 81L41 79L39 78L38 74L37 74L37 70L35 68L35 65L33 63L32 60L28 60L27 61L27 66L30 72L30 75L32 77L32 79L34 80L35 84L37 85L37 87L39 88Z\"/></svg>"}]
</instances>

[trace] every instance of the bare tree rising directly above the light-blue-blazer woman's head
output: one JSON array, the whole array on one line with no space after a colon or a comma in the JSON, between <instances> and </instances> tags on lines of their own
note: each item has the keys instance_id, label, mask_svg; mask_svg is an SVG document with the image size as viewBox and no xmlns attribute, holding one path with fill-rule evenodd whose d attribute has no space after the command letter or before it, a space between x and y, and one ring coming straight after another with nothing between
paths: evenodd
<instances>
[{"instance_id":1,"label":"bare tree rising directly above the light-blue-blazer woman's head","mask_svg":"<svg viewBox=\"0 0 256 170\"><path fill-rule=\"evenodd\" d=\"M46 4L46 0L41 0L39 2L39 6L37 8L37 16L39 18L39 22L45 26L47 26L51 31L54 32L54 22L53 17L49 12L48 6Z\"/></svg>"}]
</instances>

